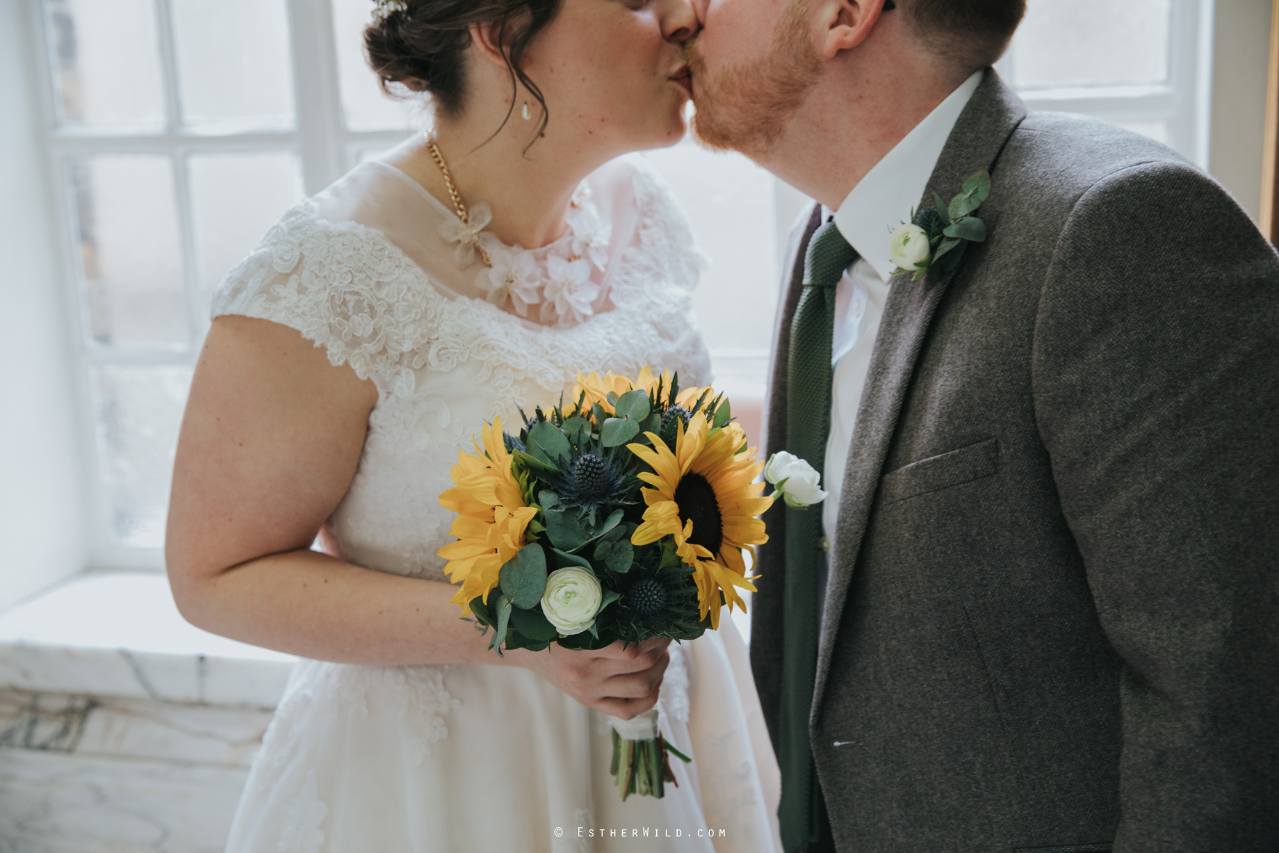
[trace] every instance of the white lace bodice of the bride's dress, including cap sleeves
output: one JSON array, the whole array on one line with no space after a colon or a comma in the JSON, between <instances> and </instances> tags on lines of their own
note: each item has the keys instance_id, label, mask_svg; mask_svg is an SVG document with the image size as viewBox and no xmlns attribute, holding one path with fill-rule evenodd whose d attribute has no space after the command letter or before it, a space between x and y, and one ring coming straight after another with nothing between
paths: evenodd
<instances>
[{"instance_id":1,"label":"white lace bodice of the bride's dress, including cap sleeves","mask_svg":"<svg viewBox=\"0 0 1279 853\"><path fill-rule=\"evenodd\" d=\"M404 180L365 164L289 210L223 281L212 316L297 329L375 382L359 467L329 532L353 563L443 581L436 550L453 518L437 497L483 421L519 423L519 408L555 400L578 371L651 364L710 381L691 315L703 258L664 180L638 156L613 161L587 178L613 228L601 288L611 309L541 326L467 295L476 271L458 272L453 247L431 237L446 208L421 188L417 201L404 196ZM384 193L408 207L389 216Z\"/></svg>"}]
</instances>

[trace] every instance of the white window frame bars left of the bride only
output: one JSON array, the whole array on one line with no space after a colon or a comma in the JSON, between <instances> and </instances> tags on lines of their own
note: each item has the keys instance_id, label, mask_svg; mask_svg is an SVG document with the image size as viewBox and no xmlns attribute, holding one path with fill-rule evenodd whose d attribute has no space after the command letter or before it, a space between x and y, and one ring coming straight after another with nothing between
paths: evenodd
<instances>
[{"instance_id":1,"label":"white window frame bars left of the bride only","mask_svg":"<svg viewBox=\"0 0 1279 853\"><path fill-rule=\"evenodd\" d=\"M207 306L202 304L203 289L200 280L188 157L193 153L231 153L286 151L297 153L302 166L303 192L313 194L336 180L356 165L359 152L370 148L389 148L408 136L407 130L352 130L345 127L338 82L338 60L334 46L333 15L329 0L285 0L289 23L289 49L293 64L293 95L295 127L292 130L265 130L246 133L202 133L179 124L180 104L178 69L174 50L169 0L153 0L159 56L164 74L166 107L165 129L161 133L130 133L96 128L61 127L59 124L59 95L56 72L52 68L55 33L47 26L45 4L31 4L32 38L37 50L33 60L40 65L36 79L41 81L42 136L47 151L47 185L54 200L58 223L56 246L59 272L67 288L69 304L68 322L73 329L73 356L75 362L77 393L81 404L79 435L84 459L92 466L86 478L90 495L86 500L88 540L87 563L91 569L152 569L164 568L160 549L129 547L119 545L110 528L110 514L100 471L96 413L90 387L90 370L96 364L152 364L192 367L200 352L202 317ZM370 4L372 9L372 4ZM97 347L88 335L88 317L84 294L79 283L79 247L74 237L74 202L68 193L65 179L67 160L98 153L153 153L170 159L174 180L174 202L179 217L179 240L183 258L183 289L189 324L189 348L130 348Z\"/></svg>"}]
</instances>

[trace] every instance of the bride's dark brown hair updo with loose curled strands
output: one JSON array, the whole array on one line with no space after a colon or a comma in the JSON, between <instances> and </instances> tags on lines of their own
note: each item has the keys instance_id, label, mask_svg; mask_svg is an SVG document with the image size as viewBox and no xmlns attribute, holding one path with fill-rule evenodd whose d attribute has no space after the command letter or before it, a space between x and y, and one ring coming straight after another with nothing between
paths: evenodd
<instances>
[{"instance_id":1,"label":"bride's dark brown hair updo with loose curled strands","mask_svg":"<svg viewBox=\"0 0 1279 853\"><path fill-rule=\"evenodd\" d=\"M518 81L542 107L540 134L546 128L546 100L521 63L533 36L554 20L559 6L560 0L402 0L365 27L365 51L384 92L396 95L389 83L428 92L439 110L455 116L466 97L463 54L471 46L471 24L492 22L510 70L506 118L515 109Z\"/></svg>"}]
</instances>

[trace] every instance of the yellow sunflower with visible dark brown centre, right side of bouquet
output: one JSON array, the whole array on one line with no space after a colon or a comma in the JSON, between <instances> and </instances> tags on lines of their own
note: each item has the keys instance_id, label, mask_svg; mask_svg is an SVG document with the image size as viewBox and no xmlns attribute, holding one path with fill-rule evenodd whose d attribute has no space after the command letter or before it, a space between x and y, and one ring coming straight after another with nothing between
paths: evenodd
<instances>
[{"instance_id":1,"label":"yellow sunflower with visible dark brown centre, right side of bouquet","mask_svg":"<svg viewBox=\"0 0 1279 853\"><path fill-rule=\"evenodd\" d=\"M700 615L711 615L711 628L719 628L720 591L728 602L746 609L734 587L755 591L746 577L742 549L755 556L755 545L769 541L757 515L773 505L761 497L762 482L753 482L764 469L753 453L741 453L746 434L737 423L710 430L702 412L675 427L674 450L660 436L646 432L652 448L627 445L652 468L640 478L654 489L643 489L648 505L643 523L631 537L633 545L656 542L673 536L675 550L686 565L693 567Z\"/></svg>"}]
</instances>

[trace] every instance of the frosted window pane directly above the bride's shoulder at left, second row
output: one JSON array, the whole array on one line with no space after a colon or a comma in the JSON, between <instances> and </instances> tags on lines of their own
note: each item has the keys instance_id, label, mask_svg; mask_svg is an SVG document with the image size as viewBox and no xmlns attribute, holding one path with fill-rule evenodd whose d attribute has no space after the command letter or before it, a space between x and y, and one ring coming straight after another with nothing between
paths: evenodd
<instances>
[{"instance_id":1,"label":"frosted window pane directly above the bride's shoulder at left, second row","mask_svg":"<svg viewBox=\"0 0 1279 853\"><path fill-rule=\"evenodd\" d=\"M302 166L289 151L270 151L192 155L188 169L202 309L223 276L302 198Z\"/></svg>"}]
</instances>

